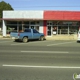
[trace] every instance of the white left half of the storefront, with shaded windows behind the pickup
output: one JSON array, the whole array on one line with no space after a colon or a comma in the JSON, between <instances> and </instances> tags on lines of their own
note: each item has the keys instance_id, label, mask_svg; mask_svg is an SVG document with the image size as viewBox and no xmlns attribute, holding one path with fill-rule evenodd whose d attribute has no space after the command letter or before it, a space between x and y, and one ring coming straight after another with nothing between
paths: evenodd
<instances>
[{"instance_id":1,"label":"white left half of the storefront, with shaded windows behind the pickup","mask_svg":"<svg viewBox=\"0 0 80 80\"><path fill-rule=\"evenodd\" d=\"M35 28L43 33L43 11L3 11L3 36L12 29Z\"/></svg>"}]
</instances>

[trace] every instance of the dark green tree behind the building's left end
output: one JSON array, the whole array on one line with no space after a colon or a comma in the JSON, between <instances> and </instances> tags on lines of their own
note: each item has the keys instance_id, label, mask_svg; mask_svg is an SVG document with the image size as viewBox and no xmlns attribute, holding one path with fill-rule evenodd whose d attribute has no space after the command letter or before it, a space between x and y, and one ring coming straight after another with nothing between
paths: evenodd
<instances>
[{"instance_id":1,"label":"dark green tree behind the building's left end","mask_svg":"<svg viewBox=\"0 0 80 80\"><path fill-rule=\"evenodd\" d=\"M1 1L0 2L0 18L2 18L3 10L13 10L13 8L11 7L11 5L9 3Z\"/></svg>"}]
</instances>

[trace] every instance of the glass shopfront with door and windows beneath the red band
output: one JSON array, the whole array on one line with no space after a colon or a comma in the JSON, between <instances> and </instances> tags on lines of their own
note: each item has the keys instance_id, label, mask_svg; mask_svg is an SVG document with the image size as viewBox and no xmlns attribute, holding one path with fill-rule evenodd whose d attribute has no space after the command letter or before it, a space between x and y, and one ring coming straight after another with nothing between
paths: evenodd
<instances>
[{"instance_id":1,"label":"glass shopfront with door and windows beneath the red band","mask_svg":"<svg viewBox=\"0 0 80 80\"><path fill-rule=\"evenodd\" d=\"M79 26L79 21L47 21L47 35L76 34Z\"/></svg>"}]
</instances>

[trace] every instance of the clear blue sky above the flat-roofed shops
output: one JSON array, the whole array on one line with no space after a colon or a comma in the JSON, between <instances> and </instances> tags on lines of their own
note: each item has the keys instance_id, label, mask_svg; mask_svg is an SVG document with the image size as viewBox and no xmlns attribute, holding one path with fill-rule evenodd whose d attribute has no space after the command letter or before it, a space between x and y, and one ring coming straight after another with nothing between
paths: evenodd
<instances>
[{"instance_id":1,"label":"clear blue sky above the flat-roofed shops","mask_svg":"<svg viewBox=\"0 0 80 80\"><path fill-rule=\"evenodd\" d=\"M80 0L3 0L3 1L9 3L14 10L80 11Z\"/></svg>"}]
</instances>

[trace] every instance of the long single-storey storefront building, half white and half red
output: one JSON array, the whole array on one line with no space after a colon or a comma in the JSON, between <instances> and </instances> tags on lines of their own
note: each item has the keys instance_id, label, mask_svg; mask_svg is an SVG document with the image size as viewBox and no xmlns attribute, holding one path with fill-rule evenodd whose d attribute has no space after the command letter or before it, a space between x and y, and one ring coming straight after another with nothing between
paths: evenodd
<instances>
[{"instance_id":1,"label":"long single-storey storefront building, half white and half red","mask_svg":"<svg viewBox=\"0 0 80 80\"><path fill-rule=\"evenodd\" d=\"M3 11L3 36L34 28L45 36L77 34L80 11Z\"/></svg>"}]
</instances>

